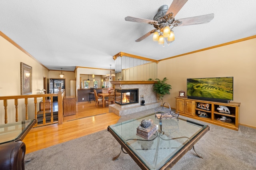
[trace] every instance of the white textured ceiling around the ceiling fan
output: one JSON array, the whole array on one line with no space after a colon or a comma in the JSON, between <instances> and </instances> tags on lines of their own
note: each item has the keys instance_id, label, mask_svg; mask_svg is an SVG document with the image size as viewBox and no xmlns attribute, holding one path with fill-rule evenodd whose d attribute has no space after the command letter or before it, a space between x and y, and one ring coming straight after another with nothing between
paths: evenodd
<instances>
[{"instance_id":1,"label":"white textured ceiling around the ceiling fan","mask_svg":"<svg viewBox=\"0 0 256 170\"><path fill-rule=\"evenodd\" d=\"M0 31L51 70L75 66L109 69L122 51L150 59L211 47L256 35L256 0L188 0L175 19L212 14L208 24L173 29L175 41L158 45L154 27L126 16L153 20L172 0L1 0Z\"/></svg>"}]
</instances>

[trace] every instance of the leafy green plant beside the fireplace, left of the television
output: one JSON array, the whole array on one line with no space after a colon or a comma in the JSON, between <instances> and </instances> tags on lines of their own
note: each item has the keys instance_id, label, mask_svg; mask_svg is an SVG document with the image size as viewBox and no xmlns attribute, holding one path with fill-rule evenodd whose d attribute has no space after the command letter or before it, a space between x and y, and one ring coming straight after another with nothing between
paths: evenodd
<instances>
[{"instance_id":1,"label":"leafy green plant beside the fireplace, left of the television","mask_svg":"<svg viewBox=\"0 0 256 170\"><path fill-rule=\"evenodd\" d=\"M158 99L161 101L161 104L163 103L164 95L170 95L170 89L172 89L171 85L165 83L166 80L168 80L166 79L166 77L164 77L163 80L156 78L157 82L153 85L153 91L157 93Z\"/></svg>"}]
</instances>

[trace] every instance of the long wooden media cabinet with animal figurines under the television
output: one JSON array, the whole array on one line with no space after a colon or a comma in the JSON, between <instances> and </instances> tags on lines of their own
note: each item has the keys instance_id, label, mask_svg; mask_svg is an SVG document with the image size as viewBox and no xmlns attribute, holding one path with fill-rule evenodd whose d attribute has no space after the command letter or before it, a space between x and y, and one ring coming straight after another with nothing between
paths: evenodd
<instances>
[{"instance_id":1,"label":"long wooden media cabinet with animal figurines under the television","mask_svg":"<svg viewBox=\"0 0 256 170\"><path fill-rule=\"evenodd\" d=\"M218 103L184 97L175 98L176 113L214 125L238 130L240 103Z\"/></svg>"}]
</instances>

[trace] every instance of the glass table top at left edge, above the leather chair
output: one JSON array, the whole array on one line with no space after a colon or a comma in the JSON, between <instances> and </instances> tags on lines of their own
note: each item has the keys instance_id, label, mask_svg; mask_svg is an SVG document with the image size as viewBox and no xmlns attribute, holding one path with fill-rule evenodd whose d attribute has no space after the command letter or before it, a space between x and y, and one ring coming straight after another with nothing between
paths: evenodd
<instances>
[{"instance_id":1,"label":"glass table top at left edge, above the leather chair","mask_svg":"<svg viewBox=\"0 0 256 170\"><path fill-rule=\"evenodd\" d=\"M34 121L34 119L30 119L0 125L0 144L19 140L22 134L34 124Z\"/></svg>"}]
</instances>

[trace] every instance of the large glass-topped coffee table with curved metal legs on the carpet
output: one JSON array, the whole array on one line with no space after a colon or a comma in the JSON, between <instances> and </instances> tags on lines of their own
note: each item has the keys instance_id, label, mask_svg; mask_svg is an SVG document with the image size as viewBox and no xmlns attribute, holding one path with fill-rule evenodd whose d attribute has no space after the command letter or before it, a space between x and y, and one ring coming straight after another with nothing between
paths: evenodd
<instances>
[{"instance_id":1,"label":"large glass-topped coffee table with curved metal legs on the carpet","mask_svg":"<svg viewBox=\"0 0 256 170\"><path fill-rule=\"evenodd\" d=\"M143 119L152 119L158 126L157 132L149 139L136 135ZM159 126L155 114L108 126L108 131L121 145L120 153L113 160L125 150L142 169L171 168L188 150L194 149L194 144L210 130L208 125L181 118L162 119L162 131Z\"/></svg>"}]
</instances>

